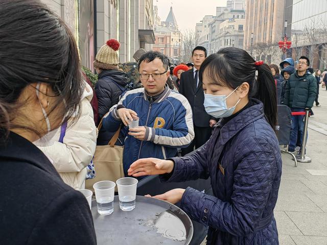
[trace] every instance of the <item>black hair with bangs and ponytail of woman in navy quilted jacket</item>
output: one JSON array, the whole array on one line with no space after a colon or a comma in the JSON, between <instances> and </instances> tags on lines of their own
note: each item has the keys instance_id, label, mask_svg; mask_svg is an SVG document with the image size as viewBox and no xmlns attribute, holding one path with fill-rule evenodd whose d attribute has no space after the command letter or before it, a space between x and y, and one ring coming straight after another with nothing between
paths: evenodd
<instances>
[{"instance_id":1,"label":"black hair with bangs and ponytail of woman in navy quilted jacket","mask_svg":"<svg viewBox=\"0 0 327 245\"><path fill-rule=\"evenodd\" d=\"M203 61L199 77L202 80L205 71L206 76L217 85L232 90L247 82L249 84L248 96L263 103L265 116L275 130L277 123L276 85L268 65L256 66L254 62L246 51L236 47L225 47ZM256 70L258 70L257 79L255 79Z\"/></svg>"}]
</instances>

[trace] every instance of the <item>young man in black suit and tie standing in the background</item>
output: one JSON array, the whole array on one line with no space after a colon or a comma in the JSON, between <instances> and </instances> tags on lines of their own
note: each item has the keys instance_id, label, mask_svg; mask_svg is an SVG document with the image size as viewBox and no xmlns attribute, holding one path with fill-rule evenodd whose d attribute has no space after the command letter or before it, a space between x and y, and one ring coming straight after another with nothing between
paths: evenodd
<instances>
[{"instance_id":1,"label":"young man in black suit and tie standing in the background","mask_svg":"<svg viewBox=\"0 0 327 245\"><path fill-rule=\"evenodd\" d=\"M195 137L192 143L182 149L182 156L188 154L203 145L211 136L212 127L217 120L205 112L203 102L204 93L202 81L199 80L199 68L206 58L206 49L197 46L192 52L193 69L185 71L180 76L179 92L188 99L193 112L193 124Z\"/></svg>"}]
</instances>

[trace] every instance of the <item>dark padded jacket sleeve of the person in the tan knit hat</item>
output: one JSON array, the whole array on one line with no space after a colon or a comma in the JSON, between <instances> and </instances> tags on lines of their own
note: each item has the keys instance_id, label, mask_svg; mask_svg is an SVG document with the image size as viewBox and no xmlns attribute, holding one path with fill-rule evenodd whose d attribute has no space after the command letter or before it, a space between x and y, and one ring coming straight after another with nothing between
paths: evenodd
<instances>
[{"instance_id":1,"label":"dark padded jacket sleeve of the person in the tan knit hat","mask_svg":"<svg viewBox=\"0 0 327 245\"><path fill-rule=\"evenodd\" d=\"M99 118L101 119L110 109L112 89L106 80L99 79L95 90L98 97Z\"/></svg>"}]
</instances>

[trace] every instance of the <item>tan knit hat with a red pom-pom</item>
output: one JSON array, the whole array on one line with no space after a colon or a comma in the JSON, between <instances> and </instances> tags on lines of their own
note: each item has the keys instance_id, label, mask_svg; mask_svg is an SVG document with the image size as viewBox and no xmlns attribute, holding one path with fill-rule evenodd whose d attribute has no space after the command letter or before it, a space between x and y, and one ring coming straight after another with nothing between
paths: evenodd
<instances>
[{"instance_id":1,"label":"tan knit hat with a red pom-pom","mask_svg":"<svg viewBox=\"0 0 327 245\"><path fill-rule=\"evenodd\" d=\"M99 50L94 66L104 70L118 69L118 54L121 44L115 39L109 39Z\"/></svg>"}]
</instances>

